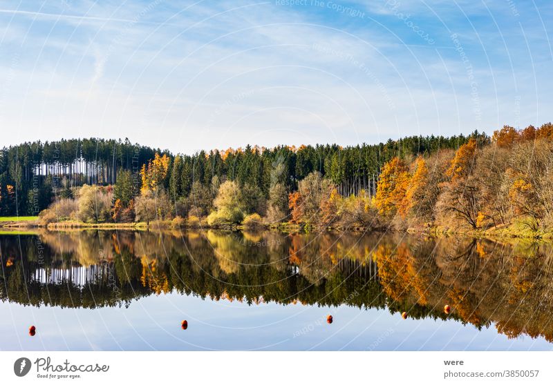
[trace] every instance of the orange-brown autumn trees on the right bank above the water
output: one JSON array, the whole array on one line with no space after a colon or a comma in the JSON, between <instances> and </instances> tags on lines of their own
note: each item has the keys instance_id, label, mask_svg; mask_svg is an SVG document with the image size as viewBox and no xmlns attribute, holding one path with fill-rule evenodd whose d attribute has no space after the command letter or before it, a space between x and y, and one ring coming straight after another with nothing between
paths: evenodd
<instances>
[{"instance_id":1,"label":"orange-brown autumn trees on the right bank above the water","mask_svg":"<svg viewBox=\"0 0 553 385\"><path fill-rule=\"evenodd\" d=\"M542 236L552 224L553 126L505 126L489 141L455 152L393 158L382 168L373 204L396 228L433 224L450 230L518 226ZM519 226L520 227L520 226ZM512 233L511 235L521 235Z\"/></svg>"}]
</instances>

